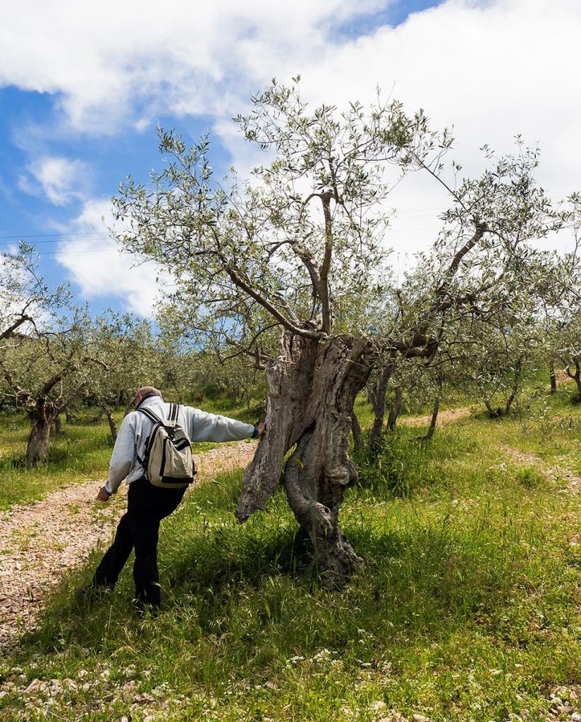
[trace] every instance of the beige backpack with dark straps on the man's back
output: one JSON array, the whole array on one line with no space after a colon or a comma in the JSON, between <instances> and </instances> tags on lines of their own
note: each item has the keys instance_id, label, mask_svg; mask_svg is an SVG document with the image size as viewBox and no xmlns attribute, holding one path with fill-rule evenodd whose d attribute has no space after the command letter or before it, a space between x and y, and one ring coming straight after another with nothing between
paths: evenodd
<instances>
[{"instance_id":1,"label":"beige backpack with dark straps on the man's back","mask_svg":"<svg viewBox=\"0 0 581 722\"><path fill-rule=\"evenodd\" d=\"M193 482L192 445L188 435L178 424L178 404L170 405L170 418L160 419L149 409L137 409L154 422L145 442L145 453L139 464L154 487L180 489Z\"/></svg>"}]
</instances>

